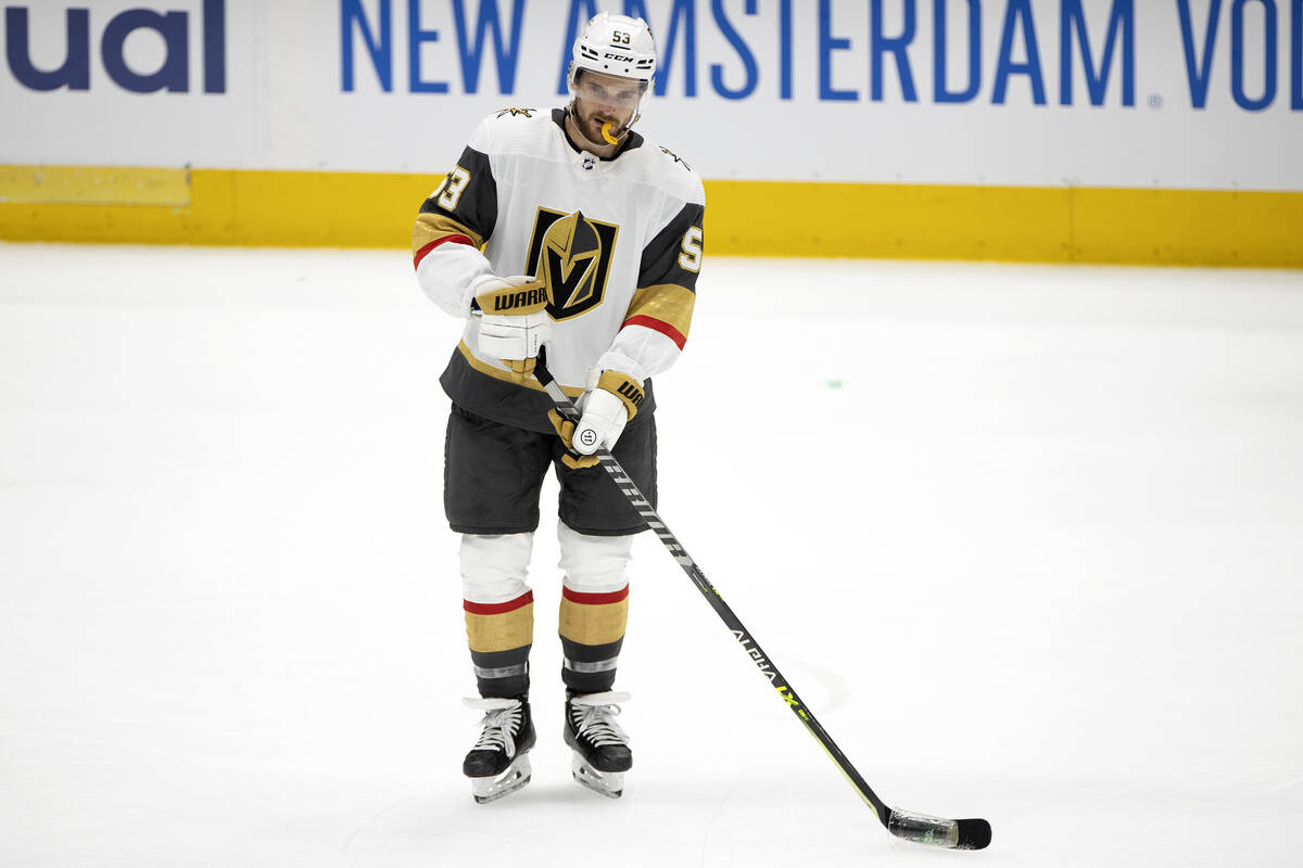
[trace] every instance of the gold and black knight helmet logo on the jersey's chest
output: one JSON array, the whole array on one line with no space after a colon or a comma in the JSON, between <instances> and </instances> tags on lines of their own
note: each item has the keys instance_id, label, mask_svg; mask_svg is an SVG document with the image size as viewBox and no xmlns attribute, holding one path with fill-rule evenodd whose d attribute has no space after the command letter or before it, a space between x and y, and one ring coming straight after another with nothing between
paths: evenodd
<instances>
[{"instance_id":1,"label":"gold and black knight helmet logo on the jersey's chest","mask_svg":"<svg viewBox=\"0 0 1303 868\"><path fill-rule=\"evenodd\" d=\"M525 273L547 284L547 312L554 320L579 316L602 303L619 232L619 226L589 220L580 211L538 210Z\"/></svg>"}]
</instances>

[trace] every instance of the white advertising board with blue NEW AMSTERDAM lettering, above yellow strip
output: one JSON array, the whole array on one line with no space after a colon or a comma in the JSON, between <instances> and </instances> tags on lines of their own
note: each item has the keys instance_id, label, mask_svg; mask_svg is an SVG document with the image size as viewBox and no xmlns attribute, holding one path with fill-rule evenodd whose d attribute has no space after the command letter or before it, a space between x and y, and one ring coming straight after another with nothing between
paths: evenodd
<instances>
[{"instance_id":1,"label":"white advertising board with blue NEW AMSTERDAM lettering, above yellow strip","mask_svg":"<svg viewBox=\"0 0 1303 868\"><path fill-rule=\"evenodd\" d=\"M598 9L708 178L1303 190L1303 0L27 0L0 164L442 172Z\"/></svg>"}]
</instances>

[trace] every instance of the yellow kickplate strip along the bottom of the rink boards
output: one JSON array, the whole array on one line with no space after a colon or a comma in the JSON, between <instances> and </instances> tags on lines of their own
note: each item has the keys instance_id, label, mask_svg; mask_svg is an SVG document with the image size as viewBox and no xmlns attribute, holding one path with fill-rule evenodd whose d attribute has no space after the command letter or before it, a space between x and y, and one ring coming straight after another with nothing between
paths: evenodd
<instances>
[{"instance_id":1,"label":"yellow kickplate strip along the bottom of the rink boards","mask_svg":"<svg viewBox=\"0 0 1303 868\"><path fill-rule=\"evenodd\" d=\"M431 186L423 174L0 167L0 238L401 249ZM706 198L719 255L1303 267L1293 193L708 180Z\"/></svg>"}]
</instances>

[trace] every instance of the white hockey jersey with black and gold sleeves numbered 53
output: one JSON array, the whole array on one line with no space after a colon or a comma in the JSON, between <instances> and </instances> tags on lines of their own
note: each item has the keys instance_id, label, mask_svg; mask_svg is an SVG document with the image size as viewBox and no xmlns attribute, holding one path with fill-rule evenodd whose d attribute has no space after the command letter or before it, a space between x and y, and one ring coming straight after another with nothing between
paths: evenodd
<instances>
[{"instance_id":1,"label":"white hockey jersey with black and gold sleeves numbered 53","mask_svg":"<svg viewBox=\"0 0 1303 868\"><path fill-rule=\"evenodd\" d=\"M485 118L417 215L417 281L439 307L468 318L440 383L472 413L551 431L542 388L515 383L506 364L480 353L469 292L482 275L546 269L549 370L572 396L589 368L642 381L637 424L654 409L650 377L688 338L705 193L683 160L637 133L603 160L571 143L564 118L563 109Z\"/></svg>"}]
</instances>

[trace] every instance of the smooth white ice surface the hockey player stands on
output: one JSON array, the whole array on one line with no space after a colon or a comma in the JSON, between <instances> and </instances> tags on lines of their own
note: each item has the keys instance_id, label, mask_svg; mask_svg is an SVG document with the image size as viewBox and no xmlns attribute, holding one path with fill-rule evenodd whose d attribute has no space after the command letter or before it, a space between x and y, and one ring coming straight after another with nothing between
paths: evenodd
<instances>
[{"instance_id":1,"label":"smooth white ice surface the hockey player stands on","mask_svg":"<svg viewBox=\"0 0 1303 868\"><path fill-rule=\"evenodd\" d=\"M481 807L437 377L401 251L0 245L0 864L1298 865L1303 275L711 260L658 379L624 799Z\"/></svg>"}]
</instances>

